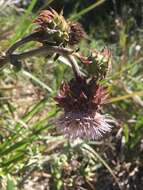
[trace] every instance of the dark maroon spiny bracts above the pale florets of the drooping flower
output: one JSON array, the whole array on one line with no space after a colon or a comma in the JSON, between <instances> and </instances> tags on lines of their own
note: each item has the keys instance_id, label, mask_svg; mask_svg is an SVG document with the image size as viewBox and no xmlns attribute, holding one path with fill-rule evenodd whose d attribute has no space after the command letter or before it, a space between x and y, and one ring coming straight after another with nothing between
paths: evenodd
<instances>
[{"instance_id":1,"label":"dark maroon spiny bracts above the pale florets of the drooping flower","mask_svg":"<svg viewBox=\"0 0 143 190\"><path fill-rule=\"evenodd\" d=\"M107 89L97 85L94 78L89 81L83 77L78 81L72 79L69 83L62 83L55 100L65 112L73 110L90 113L98 110L107 95Z\"/></svg>"}]
</instances>

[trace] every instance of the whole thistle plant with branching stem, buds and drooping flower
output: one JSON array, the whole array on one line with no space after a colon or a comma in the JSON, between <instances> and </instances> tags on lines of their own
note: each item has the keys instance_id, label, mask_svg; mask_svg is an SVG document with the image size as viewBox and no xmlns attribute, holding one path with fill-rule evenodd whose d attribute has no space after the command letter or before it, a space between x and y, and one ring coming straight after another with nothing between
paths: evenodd
<instances>
[{"instance_id":1,"label":"whole thistle plant with branching stem, buds and drooping flower","mask_svg":"<svg viewBox=\"0 0 143 190\"><path fill-rule=\"evenodd\" d=\"M42 11L33 23L36 24L33 33L13 44L6 55L0 58L0 66L10 61L12 65L21 68L19 60L34 55L47 56L50 53L51 56L64 56L71 64L73 77L69 81L61 81L54 98L57 106L63 110L55 122L58 132L71 139L87 140L98 139L110 132L110 119L100 113L108 96L107 87L102 86L101 81L111 68L110 50L91 50L88 57L77 52L74 45L85 36L82 26L67 21L62 13L58 14L53 9ZM15 53L19 46L29 41L40 42L41 46Z\"/></svg>"}]
</instances>

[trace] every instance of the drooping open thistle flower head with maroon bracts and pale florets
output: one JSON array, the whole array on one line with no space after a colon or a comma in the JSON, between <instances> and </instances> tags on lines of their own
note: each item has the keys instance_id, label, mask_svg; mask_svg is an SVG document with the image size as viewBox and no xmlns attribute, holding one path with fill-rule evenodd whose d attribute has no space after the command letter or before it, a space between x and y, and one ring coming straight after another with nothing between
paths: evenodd
<instances>
[{"instance_id":1,"label":"drooping open thistle flower head with maroon bracts and pale florets","mask_svg":"<svg viewBox=\"0 0 143 190\"><path fill-rule=\"evenodd\" d=\"M57 120L60 132L70 138L98 139L111 130L107 119L98 113L107 97L107 90L95 83L80 78L62 83L55 97L64 114Z\"/></svg>"}]
</instances>

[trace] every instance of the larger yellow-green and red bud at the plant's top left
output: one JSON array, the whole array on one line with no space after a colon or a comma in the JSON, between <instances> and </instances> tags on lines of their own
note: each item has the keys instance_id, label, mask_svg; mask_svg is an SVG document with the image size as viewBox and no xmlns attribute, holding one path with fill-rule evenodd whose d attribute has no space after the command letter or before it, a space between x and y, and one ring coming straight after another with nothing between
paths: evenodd
<instances>
[{"instance_id":1,"label":"larger yellow-green and red bud at the plant's top left","mask_svg":"<svg viewBox=\"0 0 143 190\"><path fill-rule=\"evenodd\" d=\"M58 14L54 9L43 10L38 18L36 18L33 23L38 25L36 30L45 32L47 39L59 44L65 44L69 41L69 25L65 18L61 14Z\"/></svg>"}]
</instances>

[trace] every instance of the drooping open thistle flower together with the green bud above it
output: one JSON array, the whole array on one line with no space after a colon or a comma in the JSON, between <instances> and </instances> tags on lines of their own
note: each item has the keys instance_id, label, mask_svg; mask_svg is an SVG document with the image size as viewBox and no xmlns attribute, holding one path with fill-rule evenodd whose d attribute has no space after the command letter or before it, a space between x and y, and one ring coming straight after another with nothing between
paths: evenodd
<instances>
[{"instance_id":1,"label":"drooping open thistle flower together with the green bud above it","mask_svg":"<svg viewBox=\"0 0 143 190\"><path fill-rule=\"evenodd\" d=\"M95 140L111 131L108 123L111 120L100 114L108 91L99 84L110 67L111 53L104 49L101 52L93 51L88 58L79 55L78 58L87 74L61 84L55 100L64 113L56 123L60 133L71 139Z\"/></svg>"}]
</instances>

